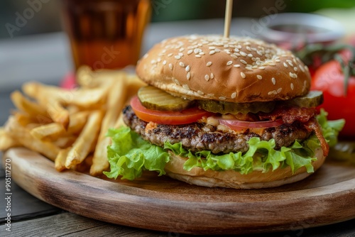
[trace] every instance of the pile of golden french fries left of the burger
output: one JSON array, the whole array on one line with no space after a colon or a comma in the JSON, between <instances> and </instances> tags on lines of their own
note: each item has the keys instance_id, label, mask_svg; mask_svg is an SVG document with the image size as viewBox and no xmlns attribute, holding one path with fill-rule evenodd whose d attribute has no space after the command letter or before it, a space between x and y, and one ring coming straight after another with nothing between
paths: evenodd
<instances>
[{"instance_id":1,"label":"pile of golden french fries left of the burger","mask_svg":"<svg viewBox=\"0 0 355 237\"><path fill-rule=\"evenodd\" d=\"M55 169L101 175L109 169L106 135L124 125L121 111L144 85L119 70L77 70L77 87L37 82L11 94L16 110L0 127L0 150L23 146L53 160Z\"/></svg>"}]
</instances>

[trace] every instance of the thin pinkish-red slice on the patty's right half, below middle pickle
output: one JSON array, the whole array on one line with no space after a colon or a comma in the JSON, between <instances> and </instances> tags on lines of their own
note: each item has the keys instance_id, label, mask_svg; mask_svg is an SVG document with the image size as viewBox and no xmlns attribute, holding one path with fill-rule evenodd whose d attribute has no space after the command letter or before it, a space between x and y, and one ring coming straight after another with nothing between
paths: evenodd
<instances>
[{"instance_id":1,"label":"thin pinkish-red slice on the patty's right half, below middle pickle","mask_svg":"<svg viewBox=\"0 0 355 237\"><path fill-rule=\"evenodd\" d=\"M219 123L231 128L234 131L245 131L246 129L255 129L255 128L272 128L278 127L283 124L282 119L277 119L275 121L258 121L258 122L249 122L241 121L237 119L222 119L219 118Z\"/></svg>"}]
</instances>

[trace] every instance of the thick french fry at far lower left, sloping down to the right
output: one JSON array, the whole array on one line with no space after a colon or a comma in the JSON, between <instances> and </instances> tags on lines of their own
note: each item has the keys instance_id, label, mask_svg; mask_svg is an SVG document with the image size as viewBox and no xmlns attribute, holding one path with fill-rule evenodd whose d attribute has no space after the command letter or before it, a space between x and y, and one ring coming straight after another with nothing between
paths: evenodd
<instances>
[{"instance_id":1,"label":"thick french fry at far lower left, sloping down to the right","mask_svg":"<svg viewBox=\"0 0 355 237\"><path fill-rule=\"evenodd\" d=\"M60 148L53 143L39 140L31 136L28 129L23 127L14 117L10 117L6 123L5 130L11 133L11 137L21 143L24 147L45 155L50 160L55 160Z\"/></svg>"}]
</instances>

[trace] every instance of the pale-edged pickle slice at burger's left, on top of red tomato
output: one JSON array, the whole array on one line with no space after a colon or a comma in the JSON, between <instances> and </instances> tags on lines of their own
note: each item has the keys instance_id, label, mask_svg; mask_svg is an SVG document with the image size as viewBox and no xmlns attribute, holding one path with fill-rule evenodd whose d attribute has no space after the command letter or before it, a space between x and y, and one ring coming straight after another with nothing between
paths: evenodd
<instances>
[{"instance_id":1,"label":"pale-edged pickle slice at burger's left, on top of red tomato","mask_svg":"<svg viewBox=\"0 0 355 237\"><path fill-rule=\"evenodd\" d=\"M138 99L147 109L160 111L181 111L191 106L192 101L174 97L162 89L152 86L141 87L138 90Z\"/></svg>"}]
</instances>

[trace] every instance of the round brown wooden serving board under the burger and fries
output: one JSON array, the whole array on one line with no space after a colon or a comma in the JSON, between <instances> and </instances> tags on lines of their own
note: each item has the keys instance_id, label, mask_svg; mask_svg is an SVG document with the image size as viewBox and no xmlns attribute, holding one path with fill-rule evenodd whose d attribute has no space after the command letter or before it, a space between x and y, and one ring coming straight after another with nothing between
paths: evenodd
<instances>
[{"instance_id":1,"label":"round brown wooden serving board under the burger and fries","mask_svg":"<svg viewBox=\"0 0 355 237\"><path fill-rule=\"evenodd\" d=\"M195 234L261 233L355 218L355 166L328 160L315 174L272 189L185 184L147 172L133 182L68 170L26 148L13 148L13 180L27 192L75 214L113 224Z\"/></svg>"}]
</instances>

